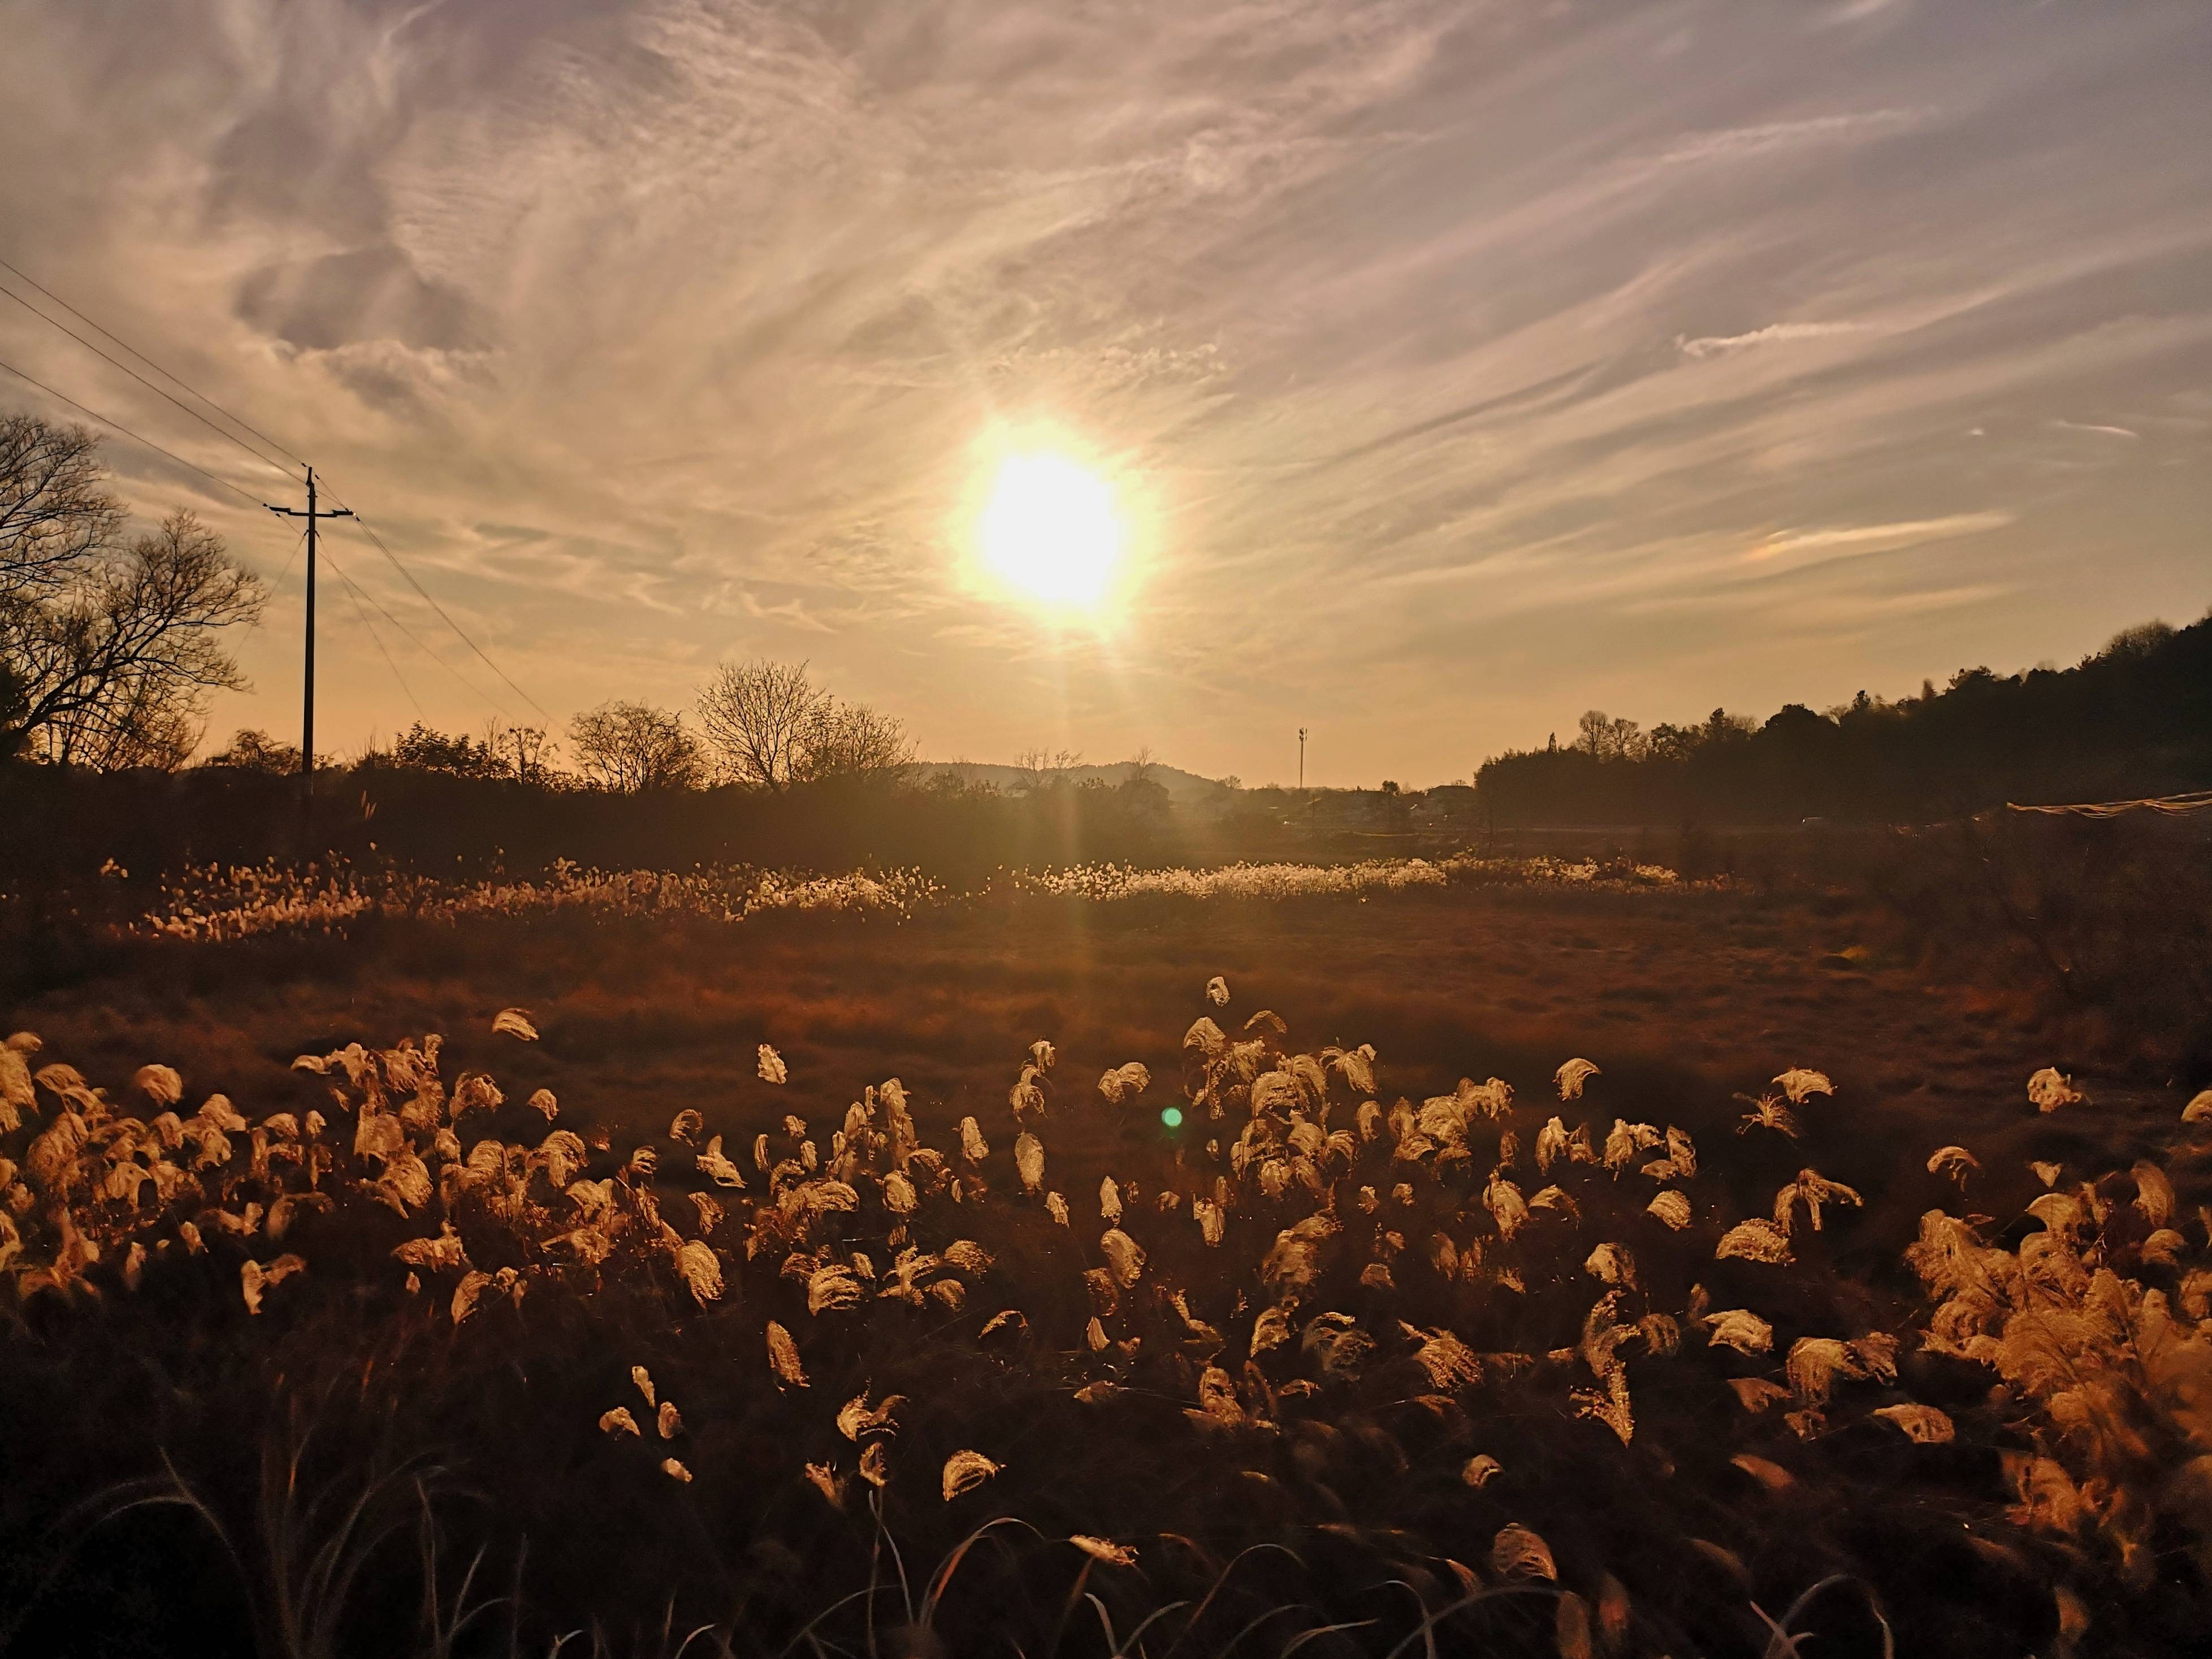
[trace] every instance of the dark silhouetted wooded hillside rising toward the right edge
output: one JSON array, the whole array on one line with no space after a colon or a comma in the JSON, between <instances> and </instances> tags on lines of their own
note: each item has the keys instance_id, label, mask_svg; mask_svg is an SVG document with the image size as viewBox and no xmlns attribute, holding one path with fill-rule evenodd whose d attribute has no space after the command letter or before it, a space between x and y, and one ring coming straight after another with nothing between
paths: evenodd
<instances>
[{"instance_id":1,"label":"dark silhouetted wooded hillside rising toward the right edge","mask_svg":"<svg viewBox=\"0 0 2212 1659\"><path fill-rule=\"evenodd\" d=\"M1495 825L1927 821L2006 801L2110 801L2212 787L2212 615L2150 622L2073 668L1962 668L1938 690L1858 692L1765 721L1712 710L1655 726L1582 717L1568 743L1475 772Z\"/></svg>"}]
</instances>

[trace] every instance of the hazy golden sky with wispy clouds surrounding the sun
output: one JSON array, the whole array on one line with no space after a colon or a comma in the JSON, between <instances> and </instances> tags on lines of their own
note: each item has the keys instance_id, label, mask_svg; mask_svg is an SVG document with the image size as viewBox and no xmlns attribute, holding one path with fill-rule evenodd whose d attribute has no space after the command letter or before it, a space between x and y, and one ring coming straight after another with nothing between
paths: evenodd
<instances>
[{"instance_id":1,"label":"hazy golden sky with wispy clouds surrounding the sun","mask_svg":"<svg viewBox=\"0 0 2212 1659\"><path fill-rule=\"evenodd\" d=\"M338 754L774 657L929 759L1287 783L1305 726L1312 783L1427 785L1593 706L1907 695L2212 604L2203 0L9 0L7 38L0 259L316 462L513 681L336 526ZM276 584L210 737L296 739L296 526L252 502L299 493L7 299L0 361L252 498L106 449ZM1095 611L982 566L1026 453L1110 491Z\"/></svg>"}]
</instances>

